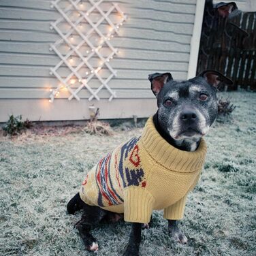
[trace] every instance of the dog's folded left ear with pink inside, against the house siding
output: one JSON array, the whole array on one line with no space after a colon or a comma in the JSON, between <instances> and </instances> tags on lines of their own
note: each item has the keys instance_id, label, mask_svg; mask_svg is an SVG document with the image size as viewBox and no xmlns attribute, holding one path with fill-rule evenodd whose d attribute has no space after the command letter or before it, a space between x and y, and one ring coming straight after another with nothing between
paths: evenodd
<instances>
[{"instance_id":1,"label":"dog's folded left ear with pink inside, against the house siding","mask_svg":"<svg viewBox=\"0 0 256 256\"><path fill-rule=\"evenodd\" d=\"M173 79L170 73L154 73L148 75L148 80L151 82L151 90L157 96L163 85Z\"/></svg>"}]
</instances>

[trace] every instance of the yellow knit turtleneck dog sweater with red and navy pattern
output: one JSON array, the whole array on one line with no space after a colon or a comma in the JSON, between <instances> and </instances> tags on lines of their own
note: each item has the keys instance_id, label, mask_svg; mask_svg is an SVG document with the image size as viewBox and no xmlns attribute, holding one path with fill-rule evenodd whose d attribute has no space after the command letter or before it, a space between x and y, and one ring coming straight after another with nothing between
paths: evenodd
<instances>
[{"instance_id":1,"label":"yellow knit turtleneck dog sweater with red and navy pattern","mask_svg":"<svg viewBox=\"0 0 256 256\"><path fill-rule=\"evenodd\" d=\"M148 223L153 210L182 219L187 193L199 179L206 142L194 152L168 144L149 118L135 137L103 157L87 174L80 197L91 206L123 213L125 221Z\"/></svg>"}]
</instances>

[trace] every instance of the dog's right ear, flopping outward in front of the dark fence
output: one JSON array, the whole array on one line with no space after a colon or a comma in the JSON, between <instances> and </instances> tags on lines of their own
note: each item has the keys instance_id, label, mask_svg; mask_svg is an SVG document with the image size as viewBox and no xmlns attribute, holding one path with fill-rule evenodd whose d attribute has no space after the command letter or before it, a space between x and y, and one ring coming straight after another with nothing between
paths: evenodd
<instances>
[{"instance_id":1,"label":"dog's right ear, flopping outward in front of the dark fence","mask_svg":"<svg viewBox=\"0 0 256 256\"><path fill-rule=\"evenodd\" d=\"M202 76L206 80L206 82L208 82L208 84L216 88L218 88L221 82L227 85L234 84L232 80L230 80L229 78L227 78L226 76L224 76L223 74L215 70L202 71L202 73L199 74L199 76Z\"/></svg>"}]
</instances>

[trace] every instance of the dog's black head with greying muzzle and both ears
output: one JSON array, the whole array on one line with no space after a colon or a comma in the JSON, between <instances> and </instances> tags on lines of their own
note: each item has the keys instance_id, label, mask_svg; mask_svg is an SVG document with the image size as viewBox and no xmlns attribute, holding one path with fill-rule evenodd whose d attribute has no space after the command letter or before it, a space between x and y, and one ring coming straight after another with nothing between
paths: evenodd
<instances>
[{"instance_id":1,"label":"dog's black head with greying muzzle and both ears","mask_svg":"<svg viewBox=\"0 0 256 256\"><path fill-rule=\"evenodd\" d=\"M212 70L182 82L173 80L170 73L150 74L148 80L157 97L159 125L174 140L205 135L217 117L217 86L233 83Z\"/></svg>"}]
</instances>

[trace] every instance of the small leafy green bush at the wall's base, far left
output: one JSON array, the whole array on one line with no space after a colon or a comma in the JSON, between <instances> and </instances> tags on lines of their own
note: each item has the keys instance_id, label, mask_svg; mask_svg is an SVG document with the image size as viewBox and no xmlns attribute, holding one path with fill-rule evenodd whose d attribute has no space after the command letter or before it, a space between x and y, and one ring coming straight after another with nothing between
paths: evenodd
<instances>
[{"instance_id":1,"label":"small leafy green bush at the wall's base, far left","mask_svg":"<svg viewBox=\"0 0 256 256\"><path fill-rule=\"evenodd\" d=\"M17 135L19 133L22 133L25 129L31 128L32 123L29 121L29 119L26 119L26 121L22 121L22 116L16 116L12 114L7 121L7 123L3 127L3 131L9 135Z\"/></svg>"}]
</instances>

